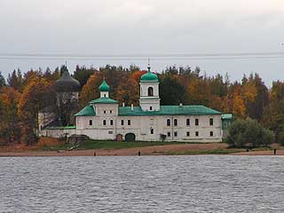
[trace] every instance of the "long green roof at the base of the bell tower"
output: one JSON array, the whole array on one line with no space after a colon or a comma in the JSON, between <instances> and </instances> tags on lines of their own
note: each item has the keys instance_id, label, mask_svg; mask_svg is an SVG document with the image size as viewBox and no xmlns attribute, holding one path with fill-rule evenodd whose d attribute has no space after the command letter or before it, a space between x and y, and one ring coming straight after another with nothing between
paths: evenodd
<instances>
[{"instance_id":1,"label":"long green roof at the base of the bell tower","mask_svg":"<svg viewBox=\"0 0 284 213\"><path fill-rule=\"evenodd\" d=\"M221 114L220 112L206 106L161 106L160 111L143 111L140 106L121 106L118 108L118 115L202 115L202 114Z\"/></svg>"}]
</instances>

